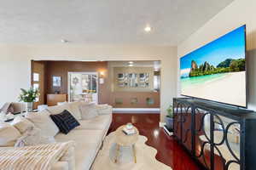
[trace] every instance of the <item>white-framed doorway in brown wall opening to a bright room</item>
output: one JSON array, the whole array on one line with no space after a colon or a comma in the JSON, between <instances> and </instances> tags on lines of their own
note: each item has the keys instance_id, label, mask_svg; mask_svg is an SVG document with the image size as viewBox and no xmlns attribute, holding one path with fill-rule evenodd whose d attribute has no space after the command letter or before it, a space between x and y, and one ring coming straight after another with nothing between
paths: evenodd
<instances>
[{"instance_id":1,"label":"white-framed doorway in brown wall opening to a bright room","mask_svg":"<svg viewBox=\"0 0 256 170\"><path fill-rule=\"evenodd\" d=\"M68 72L68 101L98 104L98 73Z\"/></svg>"}]
</instances>

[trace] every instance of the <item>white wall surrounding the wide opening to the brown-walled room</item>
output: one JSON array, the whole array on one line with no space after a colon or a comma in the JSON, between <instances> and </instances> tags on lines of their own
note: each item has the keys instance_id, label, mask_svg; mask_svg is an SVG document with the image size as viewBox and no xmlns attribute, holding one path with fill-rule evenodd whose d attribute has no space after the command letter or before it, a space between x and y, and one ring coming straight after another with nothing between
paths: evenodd
<instances>
[{"instance_id":1,"label":"white wall surrounding the wide opening to the brown-walled room","mask_svg":"<svg viewBox=\"0 0 256 170\"><path fill-rule=\"evenodd\" d=\"M16 101L20 88L29 88L31 59L161 60L161 121L177 94L177 48L145 46L0 45L0 105Z\"/></svg>"}]
</instances>

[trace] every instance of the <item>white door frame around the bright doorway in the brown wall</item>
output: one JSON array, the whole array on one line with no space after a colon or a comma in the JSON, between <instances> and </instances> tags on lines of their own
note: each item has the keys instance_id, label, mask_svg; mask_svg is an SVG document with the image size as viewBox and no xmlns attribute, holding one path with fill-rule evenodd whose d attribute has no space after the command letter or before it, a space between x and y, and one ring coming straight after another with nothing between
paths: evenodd
<instances>
[{"instance_id":1,"label":"white door frame around the bright doorway in the brown wall","mask_svg":"<svg viewBox=\"0 0 256 170\"><path fill-rule=\"evenodd\" d=\"M96 76L96 104L99 103L99 73L98 72L91 72L91 71L68 71L67 72L67 100L70 102L70 76L72 73L77 73L77 74L90 74L90 75L95 75Z\"/></svg>"}]
</instances>

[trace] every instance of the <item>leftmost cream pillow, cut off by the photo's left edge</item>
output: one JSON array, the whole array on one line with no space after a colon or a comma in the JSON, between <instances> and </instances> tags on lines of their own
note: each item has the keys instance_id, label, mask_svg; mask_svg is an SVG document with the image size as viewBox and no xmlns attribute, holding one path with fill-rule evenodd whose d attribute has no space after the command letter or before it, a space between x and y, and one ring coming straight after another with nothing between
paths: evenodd
<instances>
[{"instance_id":1,"label":"leftmost cream pillow, cut off by the photo's left edge","mask_svg":"<svg viewBox=\"0 0 256 170\"><path fill-rule=\"evenodd\" d=\"M18 129L9 123L0 123L0 147L14 146L21 136Z\"/></svg>"}]
</instances>

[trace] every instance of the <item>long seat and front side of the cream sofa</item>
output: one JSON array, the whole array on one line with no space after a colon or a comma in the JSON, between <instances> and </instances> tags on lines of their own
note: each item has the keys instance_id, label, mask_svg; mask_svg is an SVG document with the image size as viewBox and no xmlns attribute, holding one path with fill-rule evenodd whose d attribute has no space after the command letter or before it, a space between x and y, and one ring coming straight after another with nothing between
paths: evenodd
<instances>
[{"instance_id":1,"label":"long seat and front side of the cream sofa","mask_svg":"<svg viewBox=\"0 0 256 170\"><path fill-rule=\"evenodd\" d=\"M108 128L112 122L112 114L96 116L90 120L79 121L80 126L70 133L58 133L55 136L57 142L73 140L76 142L74 151L76 170L89 170L96 158L98 150L102 146L102 141L108 133ZM59 165L58 165L59 167ZM60 168L57 168L58 170ZM61 168L65 169L65 168Z\"/></svg>"}]
</instances>

